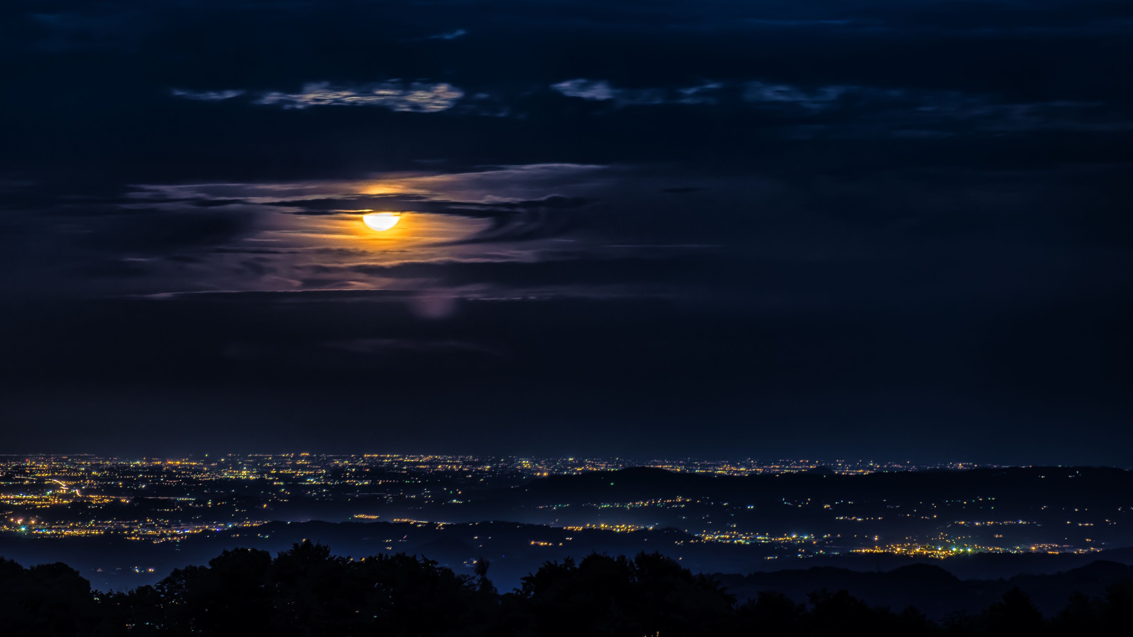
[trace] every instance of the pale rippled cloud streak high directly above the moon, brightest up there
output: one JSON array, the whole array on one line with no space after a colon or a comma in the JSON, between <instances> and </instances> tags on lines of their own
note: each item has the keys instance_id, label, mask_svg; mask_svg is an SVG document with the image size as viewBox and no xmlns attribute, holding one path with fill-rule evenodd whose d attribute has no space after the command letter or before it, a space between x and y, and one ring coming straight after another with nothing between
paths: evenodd
<instances>
[{"instance_id":1,"label":"pale rippled cloud streak high directly above the moon, brightest up there","mask_svg":"<svg viewBox=\"0 0 1133 637\"><path fill-rule=\"evenodd\" d=\"M445 83L414 82L408 87L397 82L368 86L333 86L330 82L304 84L299 93L266 93L257 104L280 104L284 109L308 107L385 107L394 111L437 112L451 109L465 96L463 91Z\"/></svg>"}]
</instances>

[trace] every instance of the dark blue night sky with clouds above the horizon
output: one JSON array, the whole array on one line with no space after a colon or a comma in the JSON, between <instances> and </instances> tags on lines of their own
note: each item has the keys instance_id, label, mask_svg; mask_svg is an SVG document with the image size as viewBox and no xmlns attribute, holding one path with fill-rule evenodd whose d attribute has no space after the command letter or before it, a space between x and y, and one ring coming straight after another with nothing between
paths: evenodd
<instances>
[{"instance_id":1,"label":"dark blue night sky with clouds above the horizon","mask_svg":"<svg viewBox=\"0 0 1133 637\"><path fill-rule=\"evenodd\" d=\"M1133 3L9 0L0 53L0 452L1133 465Z\"/></svg>"}]
</instances>

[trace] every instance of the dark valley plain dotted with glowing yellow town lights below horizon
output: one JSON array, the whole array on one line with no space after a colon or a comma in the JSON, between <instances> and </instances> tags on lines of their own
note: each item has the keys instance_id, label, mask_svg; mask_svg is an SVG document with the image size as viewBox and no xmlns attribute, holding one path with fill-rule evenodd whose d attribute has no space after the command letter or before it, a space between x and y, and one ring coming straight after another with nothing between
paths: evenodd
<instances>
[{"instance_id":1,"label":"dark valley plain dotted with glowing yellow town lights below horizon","mask_svg":"<svg viewBox=\"0 0 1133 637\"><path fill-rule=\"evenodd\" d=\"M573 501L548 494L540 501L509 503L505 509L499 504L500 494L523 492L521 487L531 481L632 467L705 477L816 474L846 479L897 472L959 475L977 468L970 464L917 466L869 460L431 455L207 455L177 459L7 456L0 457L0 529L44 538L105 535L179 542L195 534L256 527L271 520L443 527L513 516L564 532L672 529L684 534L673 541L676 545L758 544L778 550L765 559L854 552L951 558L973 552L1099 551L1114 546L1105 538L1124 530L1125 525L1119 523L1130 512L1128 507L1109 511L1019 503L1013 508L991 492L935 501L898 501L892 496L854 501L825 498L816 491L812 496L776 499L770 506L721 501L696 493L619 500L583 492ZM1075 477L1074 473L1068 477ZM484 508L488 507L485 502L495 502L496 508ZM561 542L539 537L530 538L529 545L550 549ZM790 550L784 553L783 549Z\"/></svg>"}]
</instances>

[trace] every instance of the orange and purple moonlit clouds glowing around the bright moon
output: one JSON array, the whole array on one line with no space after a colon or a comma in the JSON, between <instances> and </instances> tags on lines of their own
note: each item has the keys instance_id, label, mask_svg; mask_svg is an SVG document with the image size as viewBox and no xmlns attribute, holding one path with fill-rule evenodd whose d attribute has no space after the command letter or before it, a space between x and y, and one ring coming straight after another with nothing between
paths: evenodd
<instances>
[{"instance_id":1,"label":"orange and purple moonlit clouds glowing around the bright moon","mask_svg":"<svg viewBox=\"0 0 1133 637\"><path fill-rule=\"evenodd\" d=\"M517 202L538 205L548 197L589 194L607 179L604 170L606 167L590 164L531 164L460 173L383 173L343 181L147 185L130 194L137 204L123 205L253 211L255 232L211 250L191 272L186 269L186 275L206 280L211 288L421 291L435 286L421 279L367 275L355 266L537 261L551 247L551 239L509 236L506 245L501 244L488 233L503 223L493 215L511 214L506 206ZM368 197L365 206L351 205L359 196ZM325 210L305 209L314 203ZM444 205L444 212L436 212L437 203ZM467 206L467 214L461 206ZM402 219L389 230L375 232L363 223L367 212L397 212ZM483 236L487 239L469 241ZM189 281L182 283L193 287Z\"/></svg>"}]
</instances>

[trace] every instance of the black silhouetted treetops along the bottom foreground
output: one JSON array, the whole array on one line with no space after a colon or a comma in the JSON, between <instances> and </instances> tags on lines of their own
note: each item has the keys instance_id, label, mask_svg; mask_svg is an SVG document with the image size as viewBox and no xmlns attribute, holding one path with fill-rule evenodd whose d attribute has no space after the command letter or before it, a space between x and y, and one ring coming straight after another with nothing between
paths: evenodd
<instances>
[{"instance_id":1,"label":"black silhouetted treetops along the bottom foreground","mask_svg":"<svg viewBox=\"0 0 1133 637\"><path fill-rule=\"evenodd\" d=\"M279 553L225 551L155 586L100 593L62 563L0 559L3 635L1089 635L1133 621L1133 580L1070 595L1045 619L1011 588L986 609L934 622L917 609L871 608L845 591L807 603L758 592L736 603L722 585L659 553L547 562L511 593L488 564L455 575L406 554L351 560L304 542ZM909 576L909 574L904 574Z\"/></svg>"}]
</instances>

